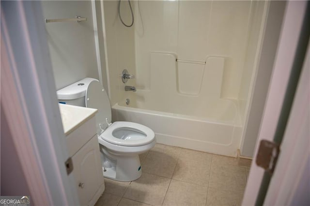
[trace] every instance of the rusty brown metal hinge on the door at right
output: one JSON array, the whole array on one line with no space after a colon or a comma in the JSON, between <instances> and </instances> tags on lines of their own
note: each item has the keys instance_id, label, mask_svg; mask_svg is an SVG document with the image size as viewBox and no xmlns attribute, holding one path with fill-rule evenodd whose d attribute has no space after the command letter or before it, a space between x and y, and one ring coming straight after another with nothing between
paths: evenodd
<instances>
[{"instance_id":1,"label":"rusty brown metal hinge on the door at right","mask_svg":"<svg viewBox=\"0 0 310 206\"><path fill-rule=\"evenodd\" d=\"M279 144L268 140L262 140L258 148L256 164L263 167L266 172L272 175L276 167L279 153Z\"/></svg>"}]
</instances>

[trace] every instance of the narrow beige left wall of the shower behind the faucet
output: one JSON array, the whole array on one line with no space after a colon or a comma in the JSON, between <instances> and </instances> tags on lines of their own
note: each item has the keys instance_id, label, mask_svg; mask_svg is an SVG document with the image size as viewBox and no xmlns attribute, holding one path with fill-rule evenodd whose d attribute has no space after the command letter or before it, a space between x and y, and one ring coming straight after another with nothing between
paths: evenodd
<instances>
[{"instance_id":1,"label":"narrow beige left wall of the shower behind the faucet","mask_svg":"<svg viewBox=\"0 0 310 206\"><path fill-rule=\"evenodd\" d=\"M135 1L131 1L132 8L135 8ZM128 80L127 84L121 81L121 74L124 69L127 69L129 74L136 74L135 66L135 42L134 27L127 28L119 20L117 13L116 0L105 0L104 16L105 16L105 31L106 31L106 46L109 67L110 79L110 102L114 105L120 102L124 97L134 95L133 92L124 91L125 85L135 86L135 79ZM131 23L131 13L127 1L121 3L121 14L124 22L128 25ZM137 21L137 20L135 20ZM134 98L130 98L134 100ZM134 101L131 101L134 104Z\"/></svg>"}]
</instances>

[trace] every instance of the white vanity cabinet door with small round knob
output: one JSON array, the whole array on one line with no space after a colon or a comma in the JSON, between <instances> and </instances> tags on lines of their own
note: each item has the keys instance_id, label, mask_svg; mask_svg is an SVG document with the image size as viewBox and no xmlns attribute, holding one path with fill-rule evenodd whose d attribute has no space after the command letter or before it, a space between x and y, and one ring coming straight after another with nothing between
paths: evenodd
<instances>
[{"instance_id":1,"label":"white vanity cabinet door with small round knob","mask_svg":"<svg viewBox=\"0 0 310 206\"><path fill-rule=\"evenodd\" d=\"M72 157L73 174L82 206L93 205L95 194L104 184L97 138L96 134Z\"/></svg>"}]
</instances>

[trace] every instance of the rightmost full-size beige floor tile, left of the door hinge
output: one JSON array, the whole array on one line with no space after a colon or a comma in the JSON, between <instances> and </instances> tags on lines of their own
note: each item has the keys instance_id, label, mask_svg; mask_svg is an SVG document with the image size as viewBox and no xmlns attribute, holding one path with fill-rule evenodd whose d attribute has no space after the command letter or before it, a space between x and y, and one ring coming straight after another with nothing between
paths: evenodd
<instances>
[{"instance_id":1,"label":"rightmost full-size beige floor tile, left of the door hinge","mask_svg":"<svg viewBox=\"0 0 310 206\"><path fill-rule=\"evenodd\" d=\"M211 168L209 187L228 190L244 191L247 184L246 169L235 167L213 167Z\"/></svg>"}]
</instances>

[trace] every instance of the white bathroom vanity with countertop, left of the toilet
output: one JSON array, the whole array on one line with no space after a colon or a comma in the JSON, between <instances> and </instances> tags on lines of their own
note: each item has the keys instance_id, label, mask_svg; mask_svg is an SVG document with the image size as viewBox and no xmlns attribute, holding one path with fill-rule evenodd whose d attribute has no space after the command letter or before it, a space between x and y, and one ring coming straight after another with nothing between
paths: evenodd
<instances>
[{"instance_id":1,"label":"white bathroom vanity with countertop, left of the toilet","mask_svg":"<svg viewBox=\"0 0 310 206\"><path fill-rule=\"evenodd\" d=\"M93 206L105 189L96 131L97 110L60 105L60 112L79 203Z\"/></svg>"}]
</instances>

